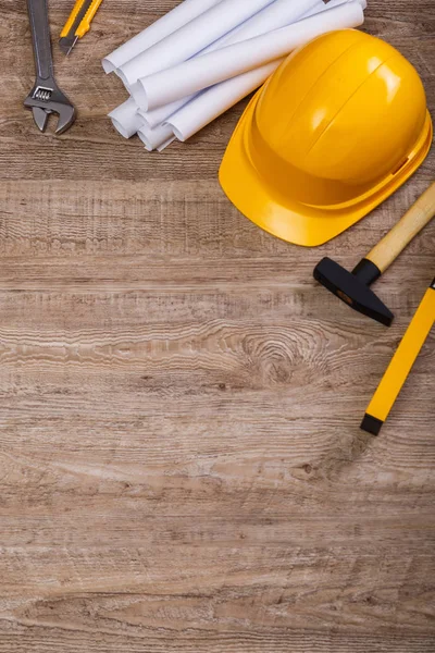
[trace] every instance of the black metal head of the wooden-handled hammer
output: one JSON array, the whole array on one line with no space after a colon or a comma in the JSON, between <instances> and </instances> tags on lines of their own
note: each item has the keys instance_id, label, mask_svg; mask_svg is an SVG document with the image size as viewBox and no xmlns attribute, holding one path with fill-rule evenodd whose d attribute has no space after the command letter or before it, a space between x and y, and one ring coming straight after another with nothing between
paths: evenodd
<instances>
[{"instance_id":1,"label":"black metal head of the wooden-handled hammer","mask_svg":"<svg viewBox=\"0 0 435 653\"><path fill-rule=\"evenodd\" d=\"M324 258L314 270L314 279L353 310L390 326L394 315L355 273L348 272L332 259Z\"/></svg>"}]
</instances>

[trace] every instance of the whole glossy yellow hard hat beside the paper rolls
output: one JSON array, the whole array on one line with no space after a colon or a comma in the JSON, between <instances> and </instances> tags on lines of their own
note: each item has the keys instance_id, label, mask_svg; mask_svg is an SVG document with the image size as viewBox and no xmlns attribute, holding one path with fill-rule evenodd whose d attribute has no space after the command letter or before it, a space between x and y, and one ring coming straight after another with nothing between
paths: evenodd
<instances>
[{"instance_id":1,"label":"whole glossy yellow hard hat beside the paper rolls","mask_svg":"<svg viewBox=\"0 0 435 653\"><path fill-rule=\"evenodd\" d=\"M403 184L432 135L415 69L385 41L343 29L290 54L252 98L220 181L265 231L322 245Z\"/></svg>"}]
</instances>

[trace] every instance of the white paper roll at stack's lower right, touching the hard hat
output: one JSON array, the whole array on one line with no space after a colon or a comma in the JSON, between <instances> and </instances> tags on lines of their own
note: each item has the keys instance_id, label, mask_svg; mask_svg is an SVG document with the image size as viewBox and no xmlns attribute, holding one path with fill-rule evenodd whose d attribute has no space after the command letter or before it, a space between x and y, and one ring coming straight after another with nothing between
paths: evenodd
<instances>
[{"instance_id":1,"label":"white paper roll at stack's lower right, touching the hard hat","mask_svg":"<svg viewBox=\"0 0 435 653\"><path fill-rule=\"evenodd\" d=\"M232 77L226 82L216 84L207 91L199 94L191 102L174 113L165 124L172 128L178 140L187 140L249 93L261 86L284 59L277 59L238 77Z\"/></svg>"}]
</instances>

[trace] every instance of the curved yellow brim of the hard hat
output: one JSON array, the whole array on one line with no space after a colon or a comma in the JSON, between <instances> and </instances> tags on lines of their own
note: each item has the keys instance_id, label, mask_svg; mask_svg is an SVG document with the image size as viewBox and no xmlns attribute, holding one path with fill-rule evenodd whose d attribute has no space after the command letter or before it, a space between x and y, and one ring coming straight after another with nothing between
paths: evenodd
<instances>
[{"instance_id":1,"label":"curved yellow brim of the hard hat","mask_svg":"<svg viewBox=\"0 0 435 653\"><path fill-rule=\"evenodd\" d=\"M433 126L427 112L423 132L407 162L371 193L357 196L343 207L312 207L291 197L283 198L259 174L249 152L248 130L261 93L262 89L251 99L229 140L219 180L225 195L244 215L288 243L315 247L335 238L395 193L420 168L431 149Z\"/></svg>"}]
</instances>

